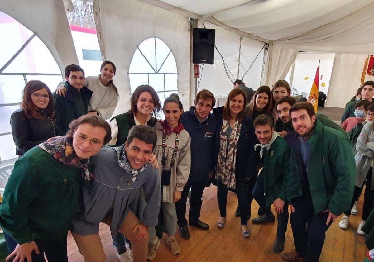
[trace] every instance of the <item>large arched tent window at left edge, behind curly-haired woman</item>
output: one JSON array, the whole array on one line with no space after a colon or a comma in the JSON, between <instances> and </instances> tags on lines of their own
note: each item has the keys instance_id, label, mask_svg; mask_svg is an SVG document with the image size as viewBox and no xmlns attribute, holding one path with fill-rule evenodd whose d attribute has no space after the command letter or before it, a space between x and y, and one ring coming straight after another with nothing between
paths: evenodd
<instances>
[{"instance_id":1,"label":"large arched tent window at left edge, behind curly-haired woman","mask_svg":"<svg viewBox=\"0 0 374 262\"><path fill-rule=\"evenodd\" d=\"M52 90L63 81L49 49L32 31L0 12L0 166L16 159L10 115L19 108L22 90L30 80L40 80Z\"/></svg>"}]
</instances>

